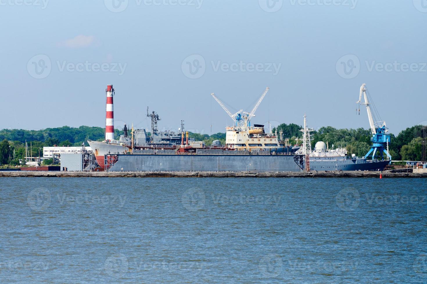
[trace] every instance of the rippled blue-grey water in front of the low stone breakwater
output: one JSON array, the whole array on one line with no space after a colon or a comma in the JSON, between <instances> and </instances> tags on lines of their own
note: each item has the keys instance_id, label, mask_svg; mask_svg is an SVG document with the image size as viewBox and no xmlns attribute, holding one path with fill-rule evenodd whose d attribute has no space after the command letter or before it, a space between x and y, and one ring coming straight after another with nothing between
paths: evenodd
<instances>
[{"instance_id":1,"label":"rippled blue-grey water in front of the low stone breakwater","mask_svg":"<svg viewBox=\"0 0 427 284\"><path fill-rule=\"evenodd\" d=\"M426 185L0 178L0 281L427 282Z\"/></svg>"}]
</instances>

